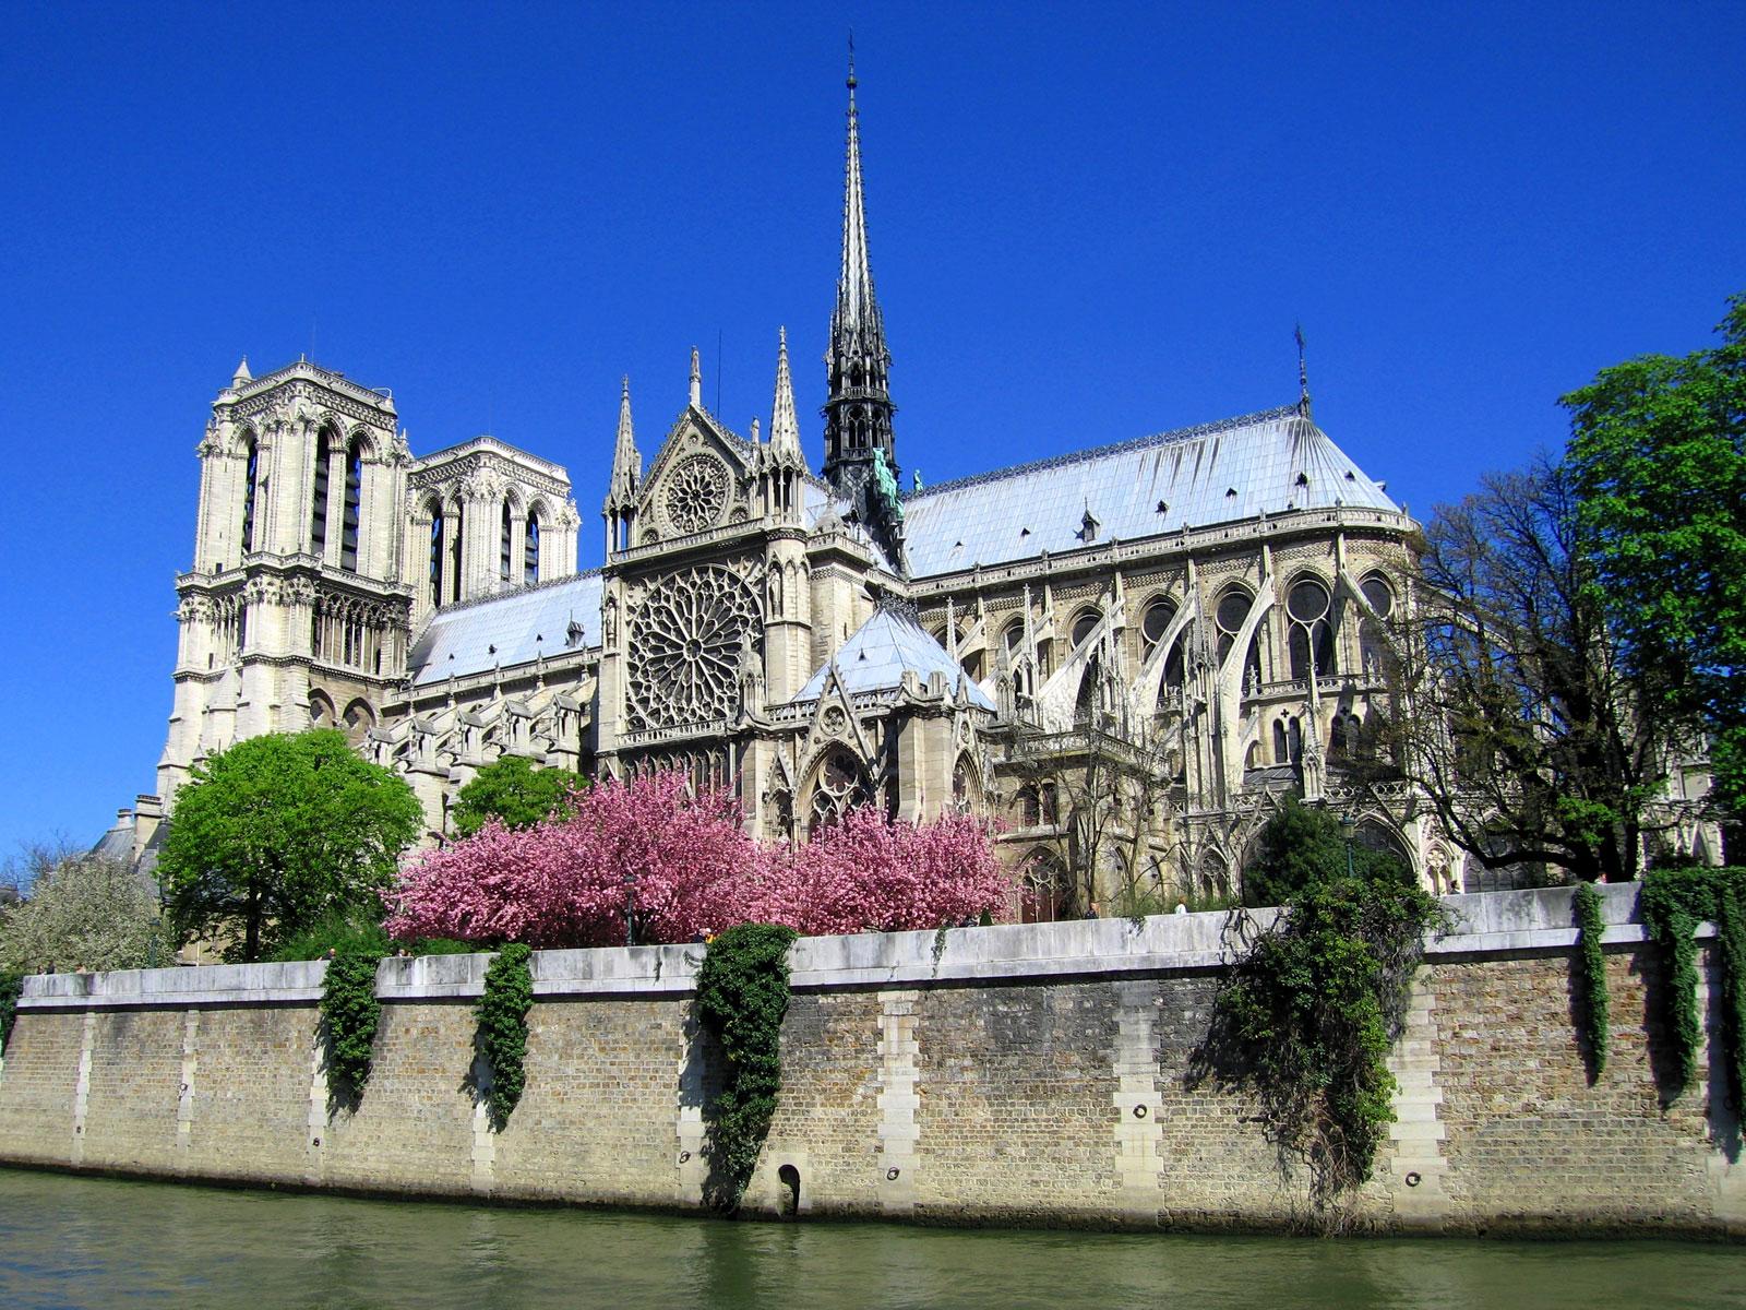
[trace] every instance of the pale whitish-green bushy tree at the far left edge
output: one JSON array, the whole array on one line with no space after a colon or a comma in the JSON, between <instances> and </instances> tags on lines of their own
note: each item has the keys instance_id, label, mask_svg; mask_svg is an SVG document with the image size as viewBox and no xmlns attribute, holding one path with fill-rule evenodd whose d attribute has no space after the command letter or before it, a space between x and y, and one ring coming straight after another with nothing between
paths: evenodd
<instances>
[{"instance_id":1,"label":"pale whitish-green bushy tree at the far left edge","mask_svg":"<svg viewBox=\"0 0 1746 1310\"><path fill-rule=\"evenodd\" d=\"M0 971L168 964L157 896L124 861L75 856L38 873L5 917Z\"/></svg>"}]
</instances>

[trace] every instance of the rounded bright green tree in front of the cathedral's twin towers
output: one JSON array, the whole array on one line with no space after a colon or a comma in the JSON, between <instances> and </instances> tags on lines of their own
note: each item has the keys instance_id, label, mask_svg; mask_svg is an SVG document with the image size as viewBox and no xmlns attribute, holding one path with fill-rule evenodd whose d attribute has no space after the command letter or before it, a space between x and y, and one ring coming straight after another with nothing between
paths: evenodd
<instances>
[{"instance_id":1,"label":"rounded bright green tree in front of the cathedral's twin towers","mask_svg":"<svg viewBox=\"0 0 1746 1310\"><path fill-rule=\"evenodd\" d=\"M344 734L251 737L196 765L157 877L178 933L258 961L321 919L381 914L421 824L412 788Z\"/></svg>"}]
</instances>

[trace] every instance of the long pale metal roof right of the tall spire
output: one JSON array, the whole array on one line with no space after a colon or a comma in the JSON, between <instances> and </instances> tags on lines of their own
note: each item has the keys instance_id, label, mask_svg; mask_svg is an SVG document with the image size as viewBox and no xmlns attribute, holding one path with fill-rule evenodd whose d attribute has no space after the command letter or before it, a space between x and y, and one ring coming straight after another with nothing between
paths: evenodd
<instances>
[{"instance_id":1,"label":"long pale metal roof right of the tall spire","mask_svg":"<svg viewBox=\"0 0 1746 1310\"><path fill-rule=\"evenodd\" d=\"M1289 405L941 482L903 510L910 569L929 576L1334 505L1400 510Z\"/></svg>"}]
</instances>

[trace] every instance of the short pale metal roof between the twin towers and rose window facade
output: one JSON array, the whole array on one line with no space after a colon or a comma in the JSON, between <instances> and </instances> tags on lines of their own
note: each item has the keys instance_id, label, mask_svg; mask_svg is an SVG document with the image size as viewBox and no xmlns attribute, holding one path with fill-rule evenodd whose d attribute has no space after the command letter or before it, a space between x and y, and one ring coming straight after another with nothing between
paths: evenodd
<instances>
[{"instance_id":1,"label":"short pale metal roof between the twin towers and rose window facade","mask_svg":"<svg viewBox=\"0 0 1746 1310\"><path fill-rule=\"evenodd\" d=\"M581 627L569 636L571 622ZM601 645L601 573L590 569L560 582L438 610L412 646L412 685L430 686L449 676L470 678L494 665L531 664ZM492 650L496 648L496 650Z\"/></svg>"}]
</instances>

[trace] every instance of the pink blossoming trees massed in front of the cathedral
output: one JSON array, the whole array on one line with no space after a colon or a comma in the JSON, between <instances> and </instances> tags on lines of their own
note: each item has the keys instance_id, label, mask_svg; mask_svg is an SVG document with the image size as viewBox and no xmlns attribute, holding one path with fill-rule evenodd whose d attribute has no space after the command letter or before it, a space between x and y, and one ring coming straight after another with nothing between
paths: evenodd
<instances>
[{"instance_id":1,"label":"pink blossoming trees massed in front of the cathedral","mask_svg":"<svg viewBox=\"0 0 1746 1310\"><path fill-rule=\"evenodd\" d=\"M728 793L693 796L679 772L604 781L573 805L522 831L492 821L412 858L389 894L388 931L620 945L627 891L639 941L744 922L807 934L927 929L1000 914L1013 898L988 826L962 814L917 826L863 807L789 852L754 842Z\"/></svg>"}]
</instances>

